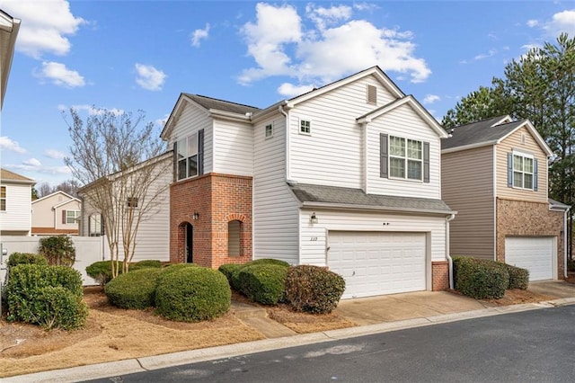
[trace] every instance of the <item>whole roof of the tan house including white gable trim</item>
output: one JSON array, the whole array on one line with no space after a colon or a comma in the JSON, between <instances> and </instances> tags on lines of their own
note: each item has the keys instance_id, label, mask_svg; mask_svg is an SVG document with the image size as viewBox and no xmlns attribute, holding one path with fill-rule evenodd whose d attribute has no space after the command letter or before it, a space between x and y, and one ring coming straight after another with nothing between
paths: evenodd
<instances>
[{"instance_id":1,"label":"whole roof of the tan house including white gable trim","mask_svg":"<svg viewBox=\"0 0 575 383\"><path fill-rule=\"evenodd\" d=\"M546 156L552 156L553 151L545 143L531 121L513 121L509 116L493 117L487 120L472 122L450 129L450 137L441 141L441 152L451 153L473 147L497 145L518 129L526 128L535 138Z\"/></svg>"}]
</instances>

